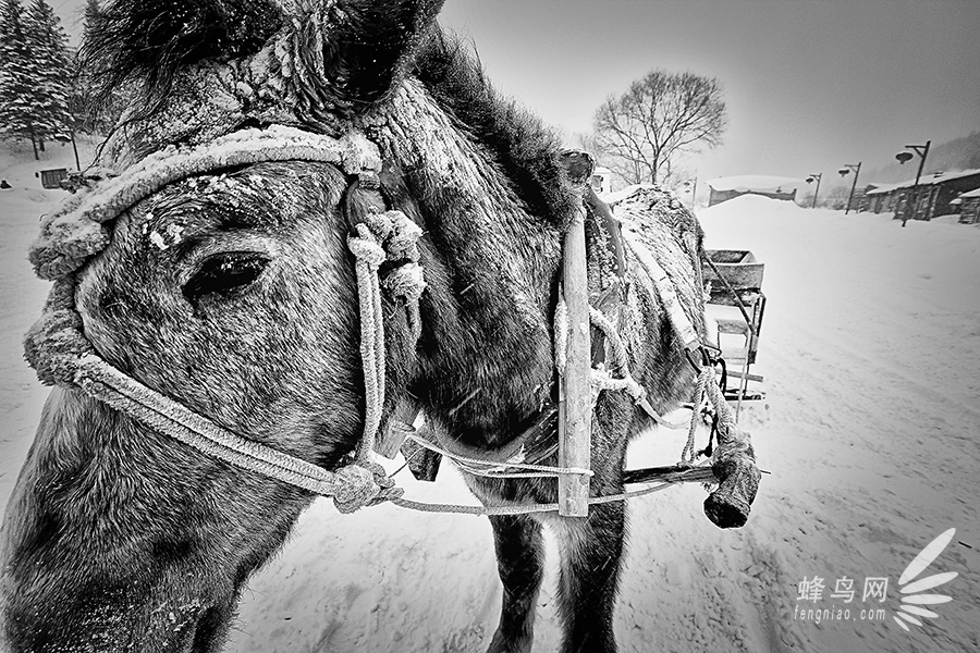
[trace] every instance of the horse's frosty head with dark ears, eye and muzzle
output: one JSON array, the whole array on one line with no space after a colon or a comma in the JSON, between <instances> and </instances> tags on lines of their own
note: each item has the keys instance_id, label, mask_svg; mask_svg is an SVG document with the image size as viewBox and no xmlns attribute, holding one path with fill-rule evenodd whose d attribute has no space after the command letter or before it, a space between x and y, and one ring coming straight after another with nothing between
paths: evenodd
<instances>
[{"instance_id":1,"label":"horse's frosty head with dark ears, eye and muzzle","mask_svg":"<svg viewBox=\"0 0 980 653\"><path fill-rule=\"evenodd\" d=\"M114 88L134 89L100 161L120 176L49 219L33 255L95 353L247 440L340 464L365 406L352 215L413 212L395 184L358 184L391 170L348 136L378 124L438 5L110 8L87 47ZM252 133L272 134L280 153L223 158ZM296 155L304 135L335 156ZM210 163L163 170L188 152ZM407 317L384 309L396 397L413 374ZM4 519L0 640L11 651L217 650L245 580L311 494L209 458L57 371L45 380L66 386L48 399Z\"/></svg>"}]
</instances>

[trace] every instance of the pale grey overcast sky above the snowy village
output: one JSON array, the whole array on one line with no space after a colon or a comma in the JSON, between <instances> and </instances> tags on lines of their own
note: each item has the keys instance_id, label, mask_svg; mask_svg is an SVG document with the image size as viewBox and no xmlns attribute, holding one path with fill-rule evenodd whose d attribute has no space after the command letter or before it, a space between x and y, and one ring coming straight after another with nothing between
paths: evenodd
<instances>
[{"instance_id":1,"label":"pale grey overcast sky above the snowy village","mask_svg":"<svg viewBox=\"0 0 980 653\"><path fill-rule=\"evenodd\" d=\"M51 1L76 33L84 1ZM730 126L686 162L701 180L841 183L980 131L980 0L446 0L441 22L569 145L653 69L716 77Z\"/></svg>"}]
</instances>

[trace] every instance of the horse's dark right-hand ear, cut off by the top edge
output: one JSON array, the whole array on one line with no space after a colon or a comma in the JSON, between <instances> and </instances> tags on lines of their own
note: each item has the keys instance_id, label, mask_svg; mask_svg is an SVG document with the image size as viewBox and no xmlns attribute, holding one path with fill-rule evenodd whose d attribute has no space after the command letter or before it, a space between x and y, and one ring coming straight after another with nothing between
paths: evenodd
<instances>
[{"instance_id":1,"label":"horse's dark right-hand ear, cut off by the top edge","mask_svg":"<svg viewBox=\"0 0 980 653\"><path fill-rule=\"evenodd\" d=\"M363 114L409 70L444 0L321 2L327 89L335 109ZM320 89L321 93L323 89Z\"/></svg>"}]
</instances>

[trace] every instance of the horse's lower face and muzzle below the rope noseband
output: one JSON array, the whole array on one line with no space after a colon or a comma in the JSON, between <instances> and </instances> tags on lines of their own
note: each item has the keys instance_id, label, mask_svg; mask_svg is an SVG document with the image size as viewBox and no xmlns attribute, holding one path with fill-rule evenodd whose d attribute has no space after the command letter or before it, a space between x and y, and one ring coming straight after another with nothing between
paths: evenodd
<instances>
[{"instance_id":1,"label":"horse's lower face and muzzle below the rope noseband","mask_svg":"<svg viewBox=\"0 0 980 653\"><path fill-rule=\"evenodd\" d=\"M56 389L0 529L0 640L162 651L213 606L230 609L304 494Z\"/></svg>"}]
</instances>

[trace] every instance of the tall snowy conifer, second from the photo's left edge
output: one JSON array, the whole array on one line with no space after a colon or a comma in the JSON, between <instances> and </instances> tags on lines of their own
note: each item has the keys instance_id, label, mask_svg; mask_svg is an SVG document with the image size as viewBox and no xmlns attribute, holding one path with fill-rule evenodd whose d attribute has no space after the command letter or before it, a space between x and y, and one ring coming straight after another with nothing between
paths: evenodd
<instances>
[{"instance_id":1,"label":"tall snowy conifer, second from the photo's left edge","mask_svg":"<svg viewBox=\"0 0 980 653\"><path fill-rule=\"evenodd\" d=\"M69 112L73 75L68 36L61 20L45 0L34 0L24 21L32 78L30 109L34 134L44 150L45 140L68 140L72 133Z\"/></svg>"}]
</instances>

